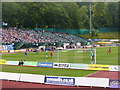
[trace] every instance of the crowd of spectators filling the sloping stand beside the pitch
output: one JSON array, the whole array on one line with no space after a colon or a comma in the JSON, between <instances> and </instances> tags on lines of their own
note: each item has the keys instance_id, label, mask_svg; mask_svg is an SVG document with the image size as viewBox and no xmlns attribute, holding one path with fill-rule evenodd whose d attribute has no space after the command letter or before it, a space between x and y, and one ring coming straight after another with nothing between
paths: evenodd
<instances>
[{"instance_id":1,"label":"crowd of spectators filling the sloping stand beside the pitch","mask_svg":"<svg viewBox=\"0 0 120 90\"><path fill-rule=\"evenodd\" d=\"M0 29L2 43L11 44L13 42L40 43L40 42L82 42L82 38L65 33L23 30L23 29Z\"/></svg>"}]
</instances>

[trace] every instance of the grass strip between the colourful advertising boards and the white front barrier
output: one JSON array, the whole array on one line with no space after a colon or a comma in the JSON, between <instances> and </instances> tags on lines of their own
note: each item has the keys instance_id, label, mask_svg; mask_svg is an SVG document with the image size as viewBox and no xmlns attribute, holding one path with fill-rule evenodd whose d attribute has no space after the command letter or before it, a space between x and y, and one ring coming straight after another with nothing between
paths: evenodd
<instances>
[{"instance_id":1,"label":"grass strip between the colourful advertising boards and the white front barrier","mask_svg":"<svg viewBox=\"0 0 120 90\"><path fill-rule=\"evenodd\" d=\"M73 76L73 77L83 77L96 72L96 71L88 71L88 70L9 66L9 65L2 65L2 71L13 72L13 73L28 73L28 74L38 74L38 75Z\"/></svg>"}]
</instances>

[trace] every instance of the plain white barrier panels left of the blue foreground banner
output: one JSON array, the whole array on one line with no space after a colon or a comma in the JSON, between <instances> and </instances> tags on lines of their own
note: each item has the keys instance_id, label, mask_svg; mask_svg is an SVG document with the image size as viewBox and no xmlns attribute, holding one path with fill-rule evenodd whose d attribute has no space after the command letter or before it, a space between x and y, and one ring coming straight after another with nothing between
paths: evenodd
<instances>
[{"instance_id":1,"label":"plain white barrier panels left of the blue foreground banner","mask_svg":"<svg viewBox=\"0 0 120 90\"><path fill-rule=\"evenodd\" d=\"M45 75L0 72L0 79L1 80L34 82L34 83L44 83Z\"/></svg>"}]
</instances>

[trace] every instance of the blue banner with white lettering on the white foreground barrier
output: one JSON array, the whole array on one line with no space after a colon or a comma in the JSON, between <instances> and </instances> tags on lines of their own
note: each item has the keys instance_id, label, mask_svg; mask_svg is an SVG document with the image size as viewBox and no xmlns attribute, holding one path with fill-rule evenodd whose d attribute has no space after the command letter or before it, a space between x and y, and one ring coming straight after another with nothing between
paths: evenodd
<instances>
[{"instance_id":1,"label":"blue banner with white lettering on the white foreground barrier","mask_svg":"<svg viewBox=\"0 0 120 90\"><path fill-rule=\"evenodd\" d=\"M75 85L75 78L46 76L45 84Z\"/></svg>"}]
</instances>

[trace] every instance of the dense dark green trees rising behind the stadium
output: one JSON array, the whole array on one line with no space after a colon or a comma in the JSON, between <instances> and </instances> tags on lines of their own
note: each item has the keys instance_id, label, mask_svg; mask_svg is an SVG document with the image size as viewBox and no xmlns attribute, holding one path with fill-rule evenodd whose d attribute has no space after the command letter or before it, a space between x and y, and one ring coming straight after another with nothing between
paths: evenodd
<instances>
[{"instance_id":1,"label":"dense dark green trees rising behind the stadium","mask_svg":"<svg viewBox=\"0 0 120 90\"><path fill-rule=\"evenodd\" d=\"M3 2L9 27L89 29L90 2ZM92 28L118 27L119 2L92 2Z\"/></svg>"}]
</instances>

